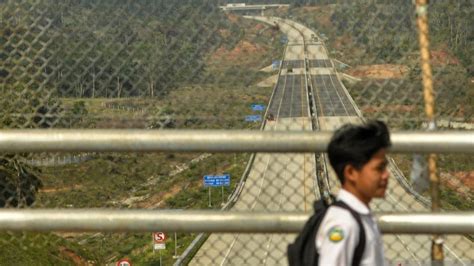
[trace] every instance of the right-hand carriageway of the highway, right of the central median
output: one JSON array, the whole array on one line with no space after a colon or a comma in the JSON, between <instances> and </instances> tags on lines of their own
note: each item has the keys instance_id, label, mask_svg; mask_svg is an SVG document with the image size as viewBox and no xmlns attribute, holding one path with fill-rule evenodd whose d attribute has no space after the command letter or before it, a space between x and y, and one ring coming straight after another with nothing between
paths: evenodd
<instances>
[{"instance_id":1,"label":"right-hand carriageway of the highway, right of the central median","mask_svg":"<svg viewBox=\"0 0 474 266\"><path fill-rule=\"evenodd\" d=\"M360 123L363 120L354 100L351 98L342 82L338 79L335 68L328 57L324 44L312 40L316 33L307 27L287 21L298 28L307 43L307 60L311 76L311 86L314 91L315 113L320 130L335 130L345 123ZM326 159L327 162L327 159ZM328 186L332 193L340 188L339 181L328 162L326 169L329 172ZM403 174L392 162L389 165L391 180L385 199L372 201L371 209L374 212L428 212L430 209L421 204L404 188ZM426 235L384 235L385 257L390 264L425 265L431 262L431 237ZM472 242L463 236L447 236L445 238L445 263L448 265L470 265L474 260Z\"/></svg>"}]
</instances>

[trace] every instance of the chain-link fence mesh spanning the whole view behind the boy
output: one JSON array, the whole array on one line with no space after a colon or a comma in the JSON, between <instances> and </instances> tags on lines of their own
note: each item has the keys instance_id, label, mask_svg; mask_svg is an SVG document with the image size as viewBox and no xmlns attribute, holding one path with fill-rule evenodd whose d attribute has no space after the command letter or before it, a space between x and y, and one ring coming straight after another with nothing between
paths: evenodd
<instances>
[{"instance_id":1,"label":"chain-link fence mesh spanning the whole view behind the boy","mask_svg":"<svg viewBox=\"0 0 474 266\"><path fill-rule=\"evenodd\" d=\"M318 131L377 118L426 128L412 1L264 6L275 2L0 1L0 126ZM473 129L472 5L428 9L440 130ZM416 158L393 155L374 211L430 210ZM339 186L324 154L3 153L0 164L4 208L220 209L238 191L226 208L310 212ZM470 156L438 164L442 207L472 211ZM205 187L205 175L230 185ZM4 232L0 261L169 265L196 239L169 233L154 253L150 234ZM285 264L293 237L203 235L190 263ZM430 259L429 236L386 235L384 245L392 263ZM472 236L445 247L448 263L473 263Z\"/></svg>"}]
</instances>

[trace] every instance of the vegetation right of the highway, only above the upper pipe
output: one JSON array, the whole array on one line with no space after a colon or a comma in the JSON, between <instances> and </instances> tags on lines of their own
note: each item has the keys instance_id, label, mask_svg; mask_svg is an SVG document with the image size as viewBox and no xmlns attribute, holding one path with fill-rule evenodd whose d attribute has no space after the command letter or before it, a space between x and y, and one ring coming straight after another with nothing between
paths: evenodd
<instances>
[{"instance_id":1,"label":"vegetation right of the highway, only above the upper pipe","mask_svg":"<svg viewBox=\"0 0 474 266\"><path fill-rule=\"evenodd\" d=\"M470 16L474 7L468 1L430 2L430 47L438 118L472 121L474 33L469 25L474 23ZM332 58L352 67L407 67L408 73L402 78L363 79L346 86L361 109L372 110L366 116L388 120L392 127L414 129L421 126L425 117L414 11L411 1L354 1L294 9L292 15L326 37ZM402 111L403 108L409 111Z\"/></svg>"}]
</instances>

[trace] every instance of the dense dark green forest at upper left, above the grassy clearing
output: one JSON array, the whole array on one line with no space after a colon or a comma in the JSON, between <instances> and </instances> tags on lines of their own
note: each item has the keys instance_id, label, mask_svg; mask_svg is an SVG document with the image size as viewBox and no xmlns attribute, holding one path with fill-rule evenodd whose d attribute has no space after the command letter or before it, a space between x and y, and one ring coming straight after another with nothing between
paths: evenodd
<instances>
[{"instance_id":1,"label":"dense dark green forest at upper left, above the grassy clearing","mask_svg":"<svg viewBox=\"0 0 474 266\"><path fill-rule=\"evenodd\" d=\"M42 1L33 8L44 22L33 21L25 2L3 5L5 82L18 81L15 66L24 63L42 74L29 88L63 97L153 97L195 80L222 41L216 30L227 26L215 1ZM17 46L17 38L26 42Z\"/></svg>"}]
</instances>

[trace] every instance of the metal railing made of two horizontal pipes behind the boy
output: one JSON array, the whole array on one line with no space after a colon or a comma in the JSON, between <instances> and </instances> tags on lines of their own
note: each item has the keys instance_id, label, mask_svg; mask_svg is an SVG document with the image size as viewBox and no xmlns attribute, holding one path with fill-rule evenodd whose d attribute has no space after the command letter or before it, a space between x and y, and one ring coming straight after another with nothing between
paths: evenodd
<instances>
[{"instance_id":1,"label":"metal railing made of two horizontal pipes behind the boy","mask_svg":"<svg viewBox=\"0 0 474 266\"><path fill-rule=\"evenodd\" d=\"M1 130L0 151L324 152L332 132ZM474 132L395 132L391 152L474 153ZM297 232L308 214L154 210L0 210L0 230ZM200 222L201 221L201 222ZM245 222L244 222L245 221ZM385 233L474 233L474 213L385 214Z\"/></svg>"}]
</instances>

